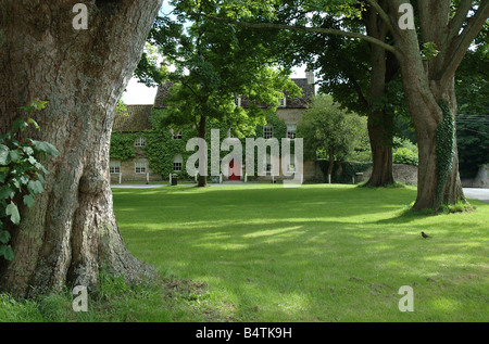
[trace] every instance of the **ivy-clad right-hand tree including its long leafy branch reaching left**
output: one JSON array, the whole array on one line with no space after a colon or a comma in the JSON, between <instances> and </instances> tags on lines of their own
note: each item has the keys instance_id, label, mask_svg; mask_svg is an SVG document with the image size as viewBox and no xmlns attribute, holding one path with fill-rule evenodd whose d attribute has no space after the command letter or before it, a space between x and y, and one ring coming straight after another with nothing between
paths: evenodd
<instances>
[{"instance_id":1,"label":"ivy-clad right-hand tree including its long leafy branch reaching left","mask_svg":"<svg viewBox=\"0 0 489 344\"><path fill-rule=\"evenodd\" d=\"M204 16L252 28L359 38L394 54L419 149L417 198L413 208L439 211L442 204L465 200L459 175L453 122L457 113L455 73L487 23L489 0L290 0L285 4L264 0L223 2L220 8L227 9L227 13L223 15L214 11ZM249 9L247 15L234 13L235 8L244 4ZM331 10L344 17L352 14L361 16L365 7L378 13L377 20L386 25L390 41L378 39L369 33L364 35L343 28L317 27L310 21ZM294 8L297 17L293 21L280 21L280 10L290 8ZM256 13L254 17L253 12ZM410 21L406 22L406 17Z\"/></svg>"}]
</instances>

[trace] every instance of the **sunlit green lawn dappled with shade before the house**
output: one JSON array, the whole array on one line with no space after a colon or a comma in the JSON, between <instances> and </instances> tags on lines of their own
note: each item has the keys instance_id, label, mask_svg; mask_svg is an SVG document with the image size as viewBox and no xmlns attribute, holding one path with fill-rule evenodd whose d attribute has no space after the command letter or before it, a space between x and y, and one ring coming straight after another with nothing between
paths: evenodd
<instances>
[{"instance_id":1,"label":"sunlit green lawn dappled with shade before the house","mask_svg":"<svg viewBox=\"0 0 489 344\"><path fill-rule=\"evenodd\" d=\"M129 251L190 295L190 320L489 320L489 204L406 214L415 194L166 187L114 190L114 205ZM413 313L398 308L402 285Z\"/></svg>"}]
</instances>

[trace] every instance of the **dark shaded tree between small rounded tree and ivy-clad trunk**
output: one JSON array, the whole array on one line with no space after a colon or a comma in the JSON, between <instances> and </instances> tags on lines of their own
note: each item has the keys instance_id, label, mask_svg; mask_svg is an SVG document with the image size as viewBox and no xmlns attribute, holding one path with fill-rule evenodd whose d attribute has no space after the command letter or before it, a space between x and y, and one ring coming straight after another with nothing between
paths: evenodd
<instances>
[{"instance_id":1,"label":"dark shaded tree between small rounded tree and ivy-clad trunk","mask_svg":"<svg viewBox=\"0 0 489 344\"><path fill-rule=\"evenodd\" d=\"M281 10L280 21L293 21L292 8ZM313 15L312 26L328 29L348 28L350 31L367 31L373 37L388 42L387 25L372 8L359 17L346 17L335 12ZM373 173L365 186L385 187L394 182L392 171L392 137L396 117L404 105L402 88L391 87L400 79L399 63L394 54L363 40L351 40L341 36L321 33L289 31L294 43L292 54L299 62L308 63L318 75L321 91L331 94L349 111L368 118L368 135ZM290 50L281 52L284 59ZM394 92L396 91L396 92ZM405 105L404 105L405 107ZM396 119L396 120L394 120Z\"/></svg>"}]
</instances>

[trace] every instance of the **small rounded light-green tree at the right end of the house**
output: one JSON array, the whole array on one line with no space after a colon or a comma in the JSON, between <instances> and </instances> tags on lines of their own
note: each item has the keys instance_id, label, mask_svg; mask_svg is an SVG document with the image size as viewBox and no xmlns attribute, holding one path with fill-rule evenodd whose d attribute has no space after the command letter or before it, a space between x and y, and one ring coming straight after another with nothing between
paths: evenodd
<instances>
[{"instance_id":1,"label":"small rounded light-green tree at the right end of the house","mask_svg":"<svg viewBox=\"0 0 489 344\"><path fill-rule=\"evenodd\" d=\"M304 155L329 161L329 180L335 161L353 153L366 135L366 118L342 110L330 95L315 97L298 126L298 136L304 138Z\"/></svg>"}]
</instances>

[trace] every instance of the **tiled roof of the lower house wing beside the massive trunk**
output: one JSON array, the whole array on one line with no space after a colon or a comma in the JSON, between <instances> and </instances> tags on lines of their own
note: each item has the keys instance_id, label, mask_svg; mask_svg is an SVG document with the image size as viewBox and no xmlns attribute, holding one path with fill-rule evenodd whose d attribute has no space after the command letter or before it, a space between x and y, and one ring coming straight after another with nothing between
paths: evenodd
<instances>
[{"instance_id":1,"label":"tiled roof of the lower house wing beside the massive trunk","mask_svg":"<svg viewBox=\"0 0 489 344\"><path fill-rule=\"evenodd\" d=\"M115 114L113 131L138 132L151 129L153 105L127 105L126 114Z\"/></svg>"}]
</instances>

